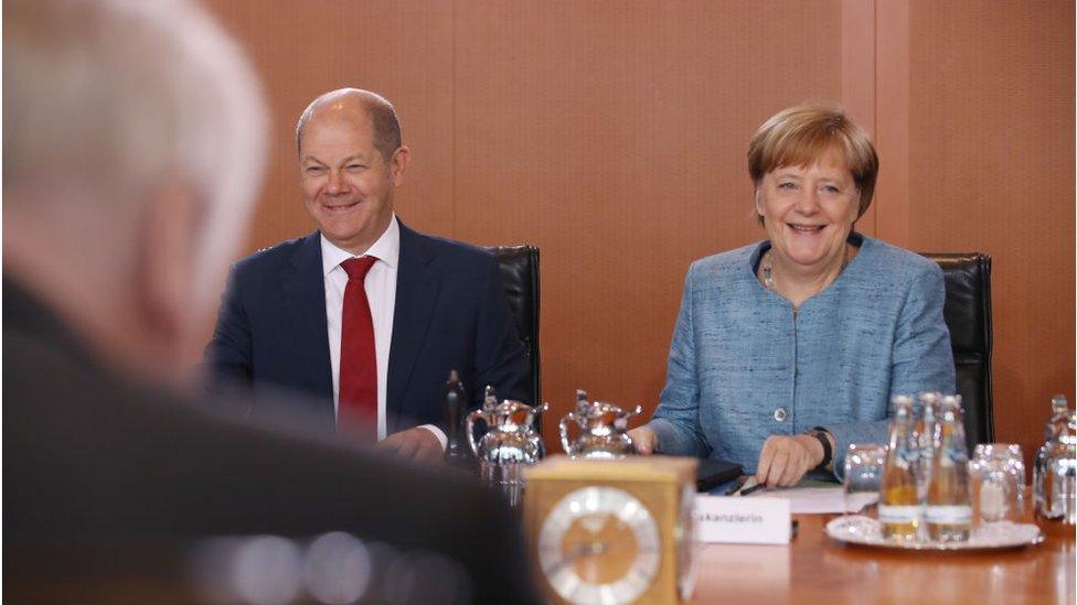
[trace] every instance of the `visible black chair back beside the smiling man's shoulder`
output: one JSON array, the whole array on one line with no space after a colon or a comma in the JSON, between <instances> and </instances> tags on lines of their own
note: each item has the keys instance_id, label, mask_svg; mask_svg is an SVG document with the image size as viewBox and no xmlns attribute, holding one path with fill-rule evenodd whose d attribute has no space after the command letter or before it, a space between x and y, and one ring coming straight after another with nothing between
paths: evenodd
<instances>
[{"instance_id":1,"label":"visible black chair back beside the smiling man's shoulder","mask_svg":"<svg viewBox=\"0 0 1077 605\"><path fill-rule=\"evenodd\" d=\"M501 264L501 284L509 309L516 321L516 333L531 361L531 403L542 401L542 375L538 358L538 248L534 246L494 246L487 248ZM536 422L541 425L540 422ZM537 430L538 426L535 426Z\"/></svg>"}]
</instances>

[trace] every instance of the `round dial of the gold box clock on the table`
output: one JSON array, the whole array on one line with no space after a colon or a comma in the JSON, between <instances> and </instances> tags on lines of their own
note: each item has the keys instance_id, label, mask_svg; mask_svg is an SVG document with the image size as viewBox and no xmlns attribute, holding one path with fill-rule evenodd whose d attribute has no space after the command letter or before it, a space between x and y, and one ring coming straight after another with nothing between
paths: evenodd
<instances>
[{"instance_id":1,"label":"round dial of the gold box clock on the table","mask_svg":"<svg viewBox=\"0 0 1077 605\"><path fill-rule=\"evenodd\" d=\"M660 545L658 523L638 498L616 487L584 487L543 519L538 564L565 601L630 603L654 581Z\"/></svg>"}]
</instances>

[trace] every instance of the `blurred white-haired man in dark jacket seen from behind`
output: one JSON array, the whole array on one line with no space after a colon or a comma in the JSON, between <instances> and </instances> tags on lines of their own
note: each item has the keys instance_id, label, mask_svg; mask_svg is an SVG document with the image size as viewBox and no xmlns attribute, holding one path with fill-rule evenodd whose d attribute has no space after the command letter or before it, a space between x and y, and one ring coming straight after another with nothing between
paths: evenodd
<instances>
[{"instance_id":1,"label":"blurred white-haired man in dark jacket seen from behind","mask_svg":"<svg viewBox=\"0 0 1077 605\"><path fill-rule=\"evenodd\" d=\"M254 424L184 395L264 153L231 39L185 2L9 0L3 17L4 596L190 602L178 563L140 572L203 537L348 532L399 554L393 573L371 559L371 586L422 561L460 572L397 596L534 602L494 494L313 439L299 412Z\"/></svg>"}]
</instances>

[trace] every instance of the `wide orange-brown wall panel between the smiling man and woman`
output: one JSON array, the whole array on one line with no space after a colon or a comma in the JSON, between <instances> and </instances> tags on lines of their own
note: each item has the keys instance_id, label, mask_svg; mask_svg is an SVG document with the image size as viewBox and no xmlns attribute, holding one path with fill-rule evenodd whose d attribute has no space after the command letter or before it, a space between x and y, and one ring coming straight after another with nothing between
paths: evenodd
<instances>
[{"instance_id":1,"label":"wide orange-brown wall panel between the smiling man and woman","mask_svg":"<svg viewBox=\"0 0 1077 605\"><path fill-rule=\"evenodd\" d=\"M457 6L456 233L542 249L546 434L577 387L649 415L689 263L761 237L748 138L840 94L840 7Z\"/></svg>"}]
</instances>

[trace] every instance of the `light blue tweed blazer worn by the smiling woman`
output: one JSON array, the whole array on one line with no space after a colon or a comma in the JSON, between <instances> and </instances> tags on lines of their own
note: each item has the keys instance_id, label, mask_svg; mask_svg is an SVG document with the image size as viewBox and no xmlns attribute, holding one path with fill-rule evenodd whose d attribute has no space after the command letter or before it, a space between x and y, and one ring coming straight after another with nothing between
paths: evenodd
<instances>
[{"instance_id":1,"label":"light blue tweed blazer worn by the smiling woman","mask_svg":"<svg viewBox=\"0 0 1077 605\"><path fill-rule=\"evenodd\" d=\"M692 263L650 426L667 454L754 473L769 435L823 426L838 441L885 443L896 393L953 392L942 271L852 234L860 253L795 313L756 279L761 241Z\"/></svg>"}]
</instances>

